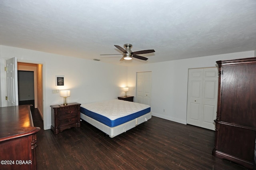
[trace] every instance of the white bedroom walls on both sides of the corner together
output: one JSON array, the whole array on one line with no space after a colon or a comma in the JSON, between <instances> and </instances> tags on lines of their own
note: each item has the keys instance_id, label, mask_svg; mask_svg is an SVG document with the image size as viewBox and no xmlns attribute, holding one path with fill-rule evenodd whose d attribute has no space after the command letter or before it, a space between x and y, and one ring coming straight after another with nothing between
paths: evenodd
<instances>
[{"instance_id":1,"label":"white bedroom walls on both sides of the corner together","mask_svg":"<svg viewBox=\"0 0 256 170\"><path fill-rule=\"evenodd\" d=\"M254 57L254 51L124 67L0 45L2 99L5 96L3 62L12 57L20 62L43 64L44 129L49 129L50 105L63 102L58 93L52 93L53 89L70 89L68 103L90 103L123 96L121 87L127 86L130 87L127 95L133 95L136 101L136 72L141 71L152 71L152 115L186 124L188 69L214 67L218 60ZM64 87L55 85L56 75L65 76Z\"/></svg>"}]
</instances>

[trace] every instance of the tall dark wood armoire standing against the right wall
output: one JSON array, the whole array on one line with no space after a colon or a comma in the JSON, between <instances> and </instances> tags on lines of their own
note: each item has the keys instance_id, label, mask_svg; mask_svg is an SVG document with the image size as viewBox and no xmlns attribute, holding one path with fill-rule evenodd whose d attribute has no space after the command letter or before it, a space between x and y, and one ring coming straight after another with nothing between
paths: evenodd
<instances>
[{"instance_id":1,"label":"tall dark wood armoire standing against the right wall","mask_svg":"<svg viewBox=\"0 0 256 170\"><path fill-rule=\"evenodd\" d=\"M256 57L216 63L219 87L212 155L252 169L256 139Z\"/></svg>"}]
</instances>

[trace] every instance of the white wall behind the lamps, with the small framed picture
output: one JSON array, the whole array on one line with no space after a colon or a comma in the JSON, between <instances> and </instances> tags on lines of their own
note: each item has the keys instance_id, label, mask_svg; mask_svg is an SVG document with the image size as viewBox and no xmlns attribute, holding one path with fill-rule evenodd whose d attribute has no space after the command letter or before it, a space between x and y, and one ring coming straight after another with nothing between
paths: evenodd
<instances>
[{"instance_id":1,"label":"white wall behind the lamps, with the small framed picture","mask_svg":"<svg viewBox=\"0 0 256 170\"><path fill-rule=\"evenodd\" d=\"M50 105L63 103L59 93L52 93L53 89L69 89L68 103L91 103L117 99L124 95L121 87L127 86L124 66L0 45L2 98L5 96L4 62L12 57L17 57L18 62L43 64L45 130L51 126ZM56 86L56 75L64 75L64 86Z\"/></svg>"}]
</instances>

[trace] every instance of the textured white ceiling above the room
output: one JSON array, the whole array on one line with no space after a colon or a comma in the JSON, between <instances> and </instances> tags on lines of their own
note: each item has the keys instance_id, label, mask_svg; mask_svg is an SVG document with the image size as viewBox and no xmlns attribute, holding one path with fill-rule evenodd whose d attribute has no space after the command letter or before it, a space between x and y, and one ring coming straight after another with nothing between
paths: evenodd
<instances>
[{"instance_id":1,"label":"textured white ceiling above the room","mask_svg":"<svg viewBox=\"0 0 256 170\"><path fill-rule=\"evenodd\" d=\"M156 52L100 55L125 43ZM0 44L119 65L251 51L256 0L0 0Z\"/></svg>"}]
</instances>

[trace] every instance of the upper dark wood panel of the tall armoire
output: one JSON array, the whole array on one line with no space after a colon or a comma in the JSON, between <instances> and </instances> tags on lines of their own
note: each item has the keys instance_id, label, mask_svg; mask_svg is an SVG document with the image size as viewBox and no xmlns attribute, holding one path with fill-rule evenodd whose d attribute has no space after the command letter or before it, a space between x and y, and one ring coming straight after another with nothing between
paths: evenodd
<instances>
[{"instance_id":1,"label":"upper dark wood panel of the tall armoire","mask_svg":"<svg viewBox=\"0 0 256 170\"><path fill-rule=\"evenodd\" d=\"M224 67L222 72L221 112L233 114L223 114L221 121L256 127L256 116L244 114L255 113L256 110L256 95L248 95L256 94L256 86L251 86L256 85L256 65Z\"/></svg>"}]
</instances>

